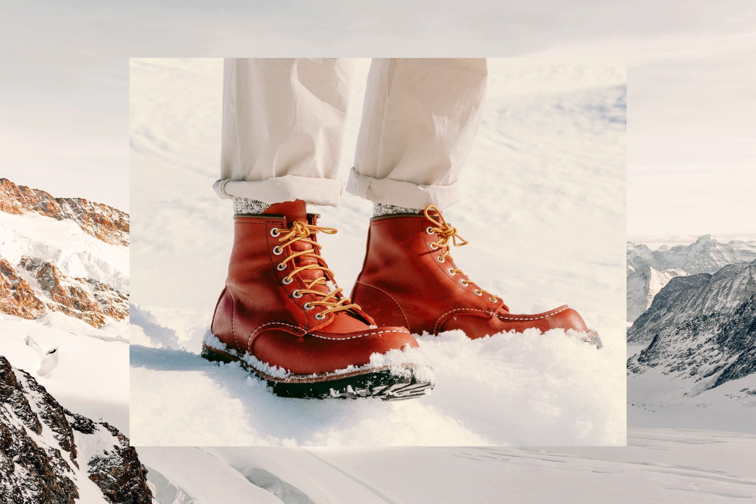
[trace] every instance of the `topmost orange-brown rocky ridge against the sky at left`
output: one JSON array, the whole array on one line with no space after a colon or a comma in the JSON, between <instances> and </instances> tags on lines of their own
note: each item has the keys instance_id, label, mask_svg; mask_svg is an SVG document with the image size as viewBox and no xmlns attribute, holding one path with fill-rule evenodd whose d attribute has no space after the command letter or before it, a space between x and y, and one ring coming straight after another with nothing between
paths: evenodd
<instances>
[{"instance_id":1,"label":"topmost orange-brown rocky ridge against the sky at left","mask_svg":"<svg viewBox=\"0 0 756 504\"><path fill-rule=\"evenodd\" d=\"M70 219L85 233L112 245L129 246L129 214L83 198L54 198L50 193L0 178L0 212L33 212L58 221Z\"/></svg>"}]
</instances>

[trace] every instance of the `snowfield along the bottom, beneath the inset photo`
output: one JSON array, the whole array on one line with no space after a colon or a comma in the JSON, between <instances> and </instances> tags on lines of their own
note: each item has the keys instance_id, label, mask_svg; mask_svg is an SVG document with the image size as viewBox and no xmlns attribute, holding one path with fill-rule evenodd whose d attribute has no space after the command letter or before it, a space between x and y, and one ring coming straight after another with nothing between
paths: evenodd
<instances>
[{"instance_id":1,"label":"snowfield along the bottom, beneath the inset photo","mask_svg":"<svg viewBox=\"0 0 756 504\"><path fill-rule=\"evenodd\" d=\"M756 497L751 434L631 428L627 447L138 447L197 504L729 502ZM207 467L214 478L207 478ZM154 471L154 472L153 472ZM243 481L240 475L249 475ZM255 478L256 476L256 478ZM252 482L265 485L265 500ZM244 485L246 483L246 486ZM160 499L159 499L160 500ZM160 500L161 504L172 504Z\"/></svg>"}]
</instances>

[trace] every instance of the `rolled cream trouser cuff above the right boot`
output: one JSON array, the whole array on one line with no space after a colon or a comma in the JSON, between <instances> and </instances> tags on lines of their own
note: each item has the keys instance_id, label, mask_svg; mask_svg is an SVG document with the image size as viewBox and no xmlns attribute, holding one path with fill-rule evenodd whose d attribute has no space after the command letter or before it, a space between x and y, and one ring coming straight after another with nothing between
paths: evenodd
<instances>
[{"instance_id":1,"label":"rolled cream trouser cuff above the right boot","mask_svg":"<svg viewBox=\"0 0 756 504\"><path fill-rule=\"evenodd\" d=\"M438 209L444 210L460 200L457 181L449 185L420 185L390 178L359 175L354 168L349 172L346 190L355 196L370 199L373 203L411 209L424 209L428 205L435 205Z\"/></svg>"}]
</instances>

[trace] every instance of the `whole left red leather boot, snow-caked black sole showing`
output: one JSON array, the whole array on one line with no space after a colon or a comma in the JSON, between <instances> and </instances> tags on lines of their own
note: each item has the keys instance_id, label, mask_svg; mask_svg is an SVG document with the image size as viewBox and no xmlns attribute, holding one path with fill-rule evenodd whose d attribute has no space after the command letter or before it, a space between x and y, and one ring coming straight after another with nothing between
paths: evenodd
<instances>
[{"instance_id":1,"label":"whole left red leather boot, snow-caked black sole showing","mask_svg":"<svg viewBox=\"0 0 756 504\"><path fill-rule=\"evenodd\" d=\"M239 361L283 397L418 397L426 369L392 352L417 347L407 329L376 327L336 287L319 255L318 215L277 203L234 216L234 248L203 357ZM374 355L377 354L377 355ZM371 363L373 356L373 363Z\"/></svg>"}]
</instances>

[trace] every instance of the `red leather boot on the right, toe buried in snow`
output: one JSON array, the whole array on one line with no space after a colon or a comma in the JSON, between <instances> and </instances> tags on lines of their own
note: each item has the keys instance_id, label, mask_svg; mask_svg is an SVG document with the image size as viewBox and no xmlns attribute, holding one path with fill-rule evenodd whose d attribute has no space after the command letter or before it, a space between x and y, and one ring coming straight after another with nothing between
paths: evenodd
<instances>
[{"instance_id":1,"label":"red leather boot on the right, toe buried in snow","mask_svg":"<svg viewBox=\"0 0 756 504\"><path fill-rule=\"evenodd\" d=\"M577 311L560 306L542 314L511 314L496 295L457 268L451 245L467 242L435 206L423 214L370 219L367 252L352 298L379 324L405 326L414 334L462 329L469 338L535 328L575 329L600 348Z\"/></svg>"}]
</instances>

